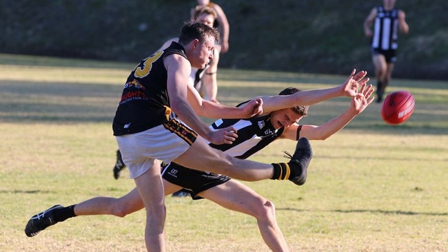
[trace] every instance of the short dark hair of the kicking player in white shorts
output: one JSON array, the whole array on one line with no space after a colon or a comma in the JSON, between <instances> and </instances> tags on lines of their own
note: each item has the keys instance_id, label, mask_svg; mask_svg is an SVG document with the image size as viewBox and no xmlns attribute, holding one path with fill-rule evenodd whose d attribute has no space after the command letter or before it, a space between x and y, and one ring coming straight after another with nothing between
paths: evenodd
<instances>
[{"instance_id":1,"label":"short dark hair of the kicking player in white shorts","mask_svg":"<svg viewBox=\"0 0 448 252\"><path fill-rule=\"evenodd\" d=\"M207 36L214 37L215 43L218 43L220 35L218 30L211 28L205 23L200 22L188 22L181 28L181 36L179 36L179 43L186 45L194 39L198 39L199 42L203 42Z\"/></svg>"}]
</instances>

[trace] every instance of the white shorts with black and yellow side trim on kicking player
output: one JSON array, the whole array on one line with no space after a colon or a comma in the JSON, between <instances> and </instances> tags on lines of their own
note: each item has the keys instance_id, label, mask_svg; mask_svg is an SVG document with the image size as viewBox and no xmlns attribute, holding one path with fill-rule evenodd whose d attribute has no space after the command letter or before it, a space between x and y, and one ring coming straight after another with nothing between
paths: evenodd
<instances>
[{"instance_id":1,"label":"white shorts with black and yellow side trim on kicking player","mask_svg":"<svg viewBox=\"0 0 448 252\"><path fill-rule=\"evenodd\" d=\"M181 156L196 140L197 134L176 119L144 132L116 136L123 162L130 178L144 174L154 160L171 162Z\"/></svg>"}]
</instances>

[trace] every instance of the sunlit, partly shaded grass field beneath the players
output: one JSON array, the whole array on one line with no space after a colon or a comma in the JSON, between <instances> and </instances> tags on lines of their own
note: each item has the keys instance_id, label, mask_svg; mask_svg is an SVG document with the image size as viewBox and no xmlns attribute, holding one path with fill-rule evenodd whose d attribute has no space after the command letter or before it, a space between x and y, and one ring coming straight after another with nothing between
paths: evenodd
<instances>
[{"instance_id":1,"label":"sunlit, partly shaded grass field beneath the players","mask_svg":"<svg viewBox=\"0 0 448 252\"><path fill-rule=\"evenodd\" d=\"M32 215L53 204L119 197L134 187L127 171L112 177L111 129L132 67L0 54L0 251L145 251L143 211L72 218L34 238L23 233ZM218 98L236 105L345 78L220 70ZM386 125L373 103L332 138L312 142L303 187L247 183L276 204L292 251L448 251L448 82L394 79L394 90L416 98L405 124ZM348 105L348 98L314 105L302 123L323 123ZM252 159L281 161L294 146L278 141ZM166 205L168 251L268 251L250 216L207 200L167 197Z\"/></svg>"}]
</instances>

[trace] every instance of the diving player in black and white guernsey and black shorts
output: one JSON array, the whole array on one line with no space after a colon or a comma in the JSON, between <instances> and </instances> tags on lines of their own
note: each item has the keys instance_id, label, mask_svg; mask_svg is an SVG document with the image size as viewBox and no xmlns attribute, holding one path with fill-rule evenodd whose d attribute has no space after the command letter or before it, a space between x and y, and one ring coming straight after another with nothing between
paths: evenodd
<instances>
[{"instance_id":1,"label":"diving player in black and white guernsey and black shorts","mask_svg":"<svg viewBox=\"0 0 448 252\"><path fill-rule=\"evenodd\" d=\"M365 76L365 72L362 75ZM355 79L360 80L358 77L355 77ZM211 127L218 129L232 125L238 130L238 138L232 145L211 146L225 151L230 156L247 158L272 143L272 141L281 138L299 140L303 143L307 142L306 138L325 140L343 129L373 101L370 96L374 90L371 85L366 87L367 80L360 81L359 92L363 96L352 98L349 108L343 114L319 126L299 125L299 120L307 115L307 106L285 107L285 104L289 104L286 96L263 96L265 114L249 119L216 120ZM295 94L297 91L290 87L283 90L281 94ZM298 94L307 94L301 96L305 104L307 103L305 100L313 99L312 93L304 91ZM247 185L227 176L188 169L173 162L170 165L164 165L162 169L165 195L184 188L190 192L194 199L207 198L221 205L221 207L254 216L261 236L269 249L272 251L289 251L283 233L276 223L274 204ZM139 191L133 189L121 198L96 197L68 207L56 205L33 216L28 221L26 232L32 231L34 236L46 227L75 216L110 214L124 217L140 209L143 209L143 202L139 196ZM48 221L50 218L38 219L39 216L45 215L51 216L52 221Z\"/></svg>"}]
</instances>

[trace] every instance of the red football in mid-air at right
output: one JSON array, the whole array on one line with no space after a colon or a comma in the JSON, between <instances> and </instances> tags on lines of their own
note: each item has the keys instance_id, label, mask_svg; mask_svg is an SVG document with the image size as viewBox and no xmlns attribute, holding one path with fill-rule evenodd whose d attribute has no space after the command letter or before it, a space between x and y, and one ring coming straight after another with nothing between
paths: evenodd
<instances>
[{"instance_id":1,"label":"red football in mid-air at right","mask_svg":"<svg viewBox=\"0 0 448 252\"><path fill-rule=\"evenodd\" d=\"M381 117L386 123L397 125L405 123L412 112L416 101L410 92L400 90L388 94L381 107Z\"/></svg>"}]
</instances>

